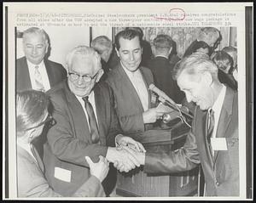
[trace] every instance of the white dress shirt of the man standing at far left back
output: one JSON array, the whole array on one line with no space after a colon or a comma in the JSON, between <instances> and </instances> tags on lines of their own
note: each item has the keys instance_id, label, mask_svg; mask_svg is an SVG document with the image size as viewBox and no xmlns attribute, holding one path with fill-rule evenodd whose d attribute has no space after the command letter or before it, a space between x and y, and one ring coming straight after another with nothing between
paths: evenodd
<instances>
[{"instance_id":1,"label":"white dress shirt of the man standing at far left back","mask_svg":"<svg viewBox=\"0 0 256 203\"><path fill-rule=\"evenodd\" d=\"M50 89L49 86L49 77L44 65L44 60L38 65L33 65L31 62L26 60L27 66L28 66L28 71L29 71L29 76L32 84L32 89L37 89L36 81L35 81L35 66L38 66L38 70L40 72L40 75L42 76L42 83L44 86L45 92Z\"/></svg>"}]
</instances>

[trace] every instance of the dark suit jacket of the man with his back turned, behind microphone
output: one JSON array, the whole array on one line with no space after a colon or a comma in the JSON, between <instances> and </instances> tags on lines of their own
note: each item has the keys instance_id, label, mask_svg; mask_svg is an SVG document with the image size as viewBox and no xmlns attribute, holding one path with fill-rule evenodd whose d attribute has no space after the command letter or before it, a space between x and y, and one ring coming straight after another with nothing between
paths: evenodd
<instances>
[{"instance_id":1,"label":"dark suit jacket of the man with his back turned, behind microphone","mask_svg":"<svg viewBox=\"0 0 256 203\"><path fill-rule=\"evenodd\" d=\"M155 86L164 91L176 103L181 103L184 94L177 86L177 82L172 79L173 66L169 60L165 57L157 56L148 60L147 67L153 73Z\"/></svg>"}]
</instances>

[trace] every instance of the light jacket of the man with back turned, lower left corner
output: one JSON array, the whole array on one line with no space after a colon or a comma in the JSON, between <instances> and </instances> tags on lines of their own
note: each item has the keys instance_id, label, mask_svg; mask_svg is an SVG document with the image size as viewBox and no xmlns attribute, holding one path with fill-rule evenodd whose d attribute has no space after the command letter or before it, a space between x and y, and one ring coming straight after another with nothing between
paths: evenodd
<instances>
[{"instance_id":1,"label":"light jacket of the man with back turned, lower left corner","mask_svg":"<svg viewBox=\"0 0 256 203\"><path fill-rule=\"evenodd\" d=\"M61 197L49 187L37 161L25 149L17 145L18 197ZM91 176L73 196L105 196L102 183Z\"/></svg>"}]
</instances>

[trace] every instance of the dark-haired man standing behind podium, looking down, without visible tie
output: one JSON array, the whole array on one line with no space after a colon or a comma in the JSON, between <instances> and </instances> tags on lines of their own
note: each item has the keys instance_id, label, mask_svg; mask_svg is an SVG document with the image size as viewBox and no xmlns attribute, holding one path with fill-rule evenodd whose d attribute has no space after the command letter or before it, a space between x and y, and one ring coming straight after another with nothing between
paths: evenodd
<instances>
[{"instance_id":1,"label":"dark-haired man standing behind podium, looking down, without visible tie","mask_svg":"<svg viewBox=\"0 0 256 203\"><path fill-rule=\"evenodd\" d=\"M154 82L151 71L141 66L142 38L133 29L120 31L115 37L116 53L120 62L109 72L106 82L112 87L115 109L125 133L144 132L164 114L152 108L154 101L148 86Z\"/></svg>"}]
</instances>

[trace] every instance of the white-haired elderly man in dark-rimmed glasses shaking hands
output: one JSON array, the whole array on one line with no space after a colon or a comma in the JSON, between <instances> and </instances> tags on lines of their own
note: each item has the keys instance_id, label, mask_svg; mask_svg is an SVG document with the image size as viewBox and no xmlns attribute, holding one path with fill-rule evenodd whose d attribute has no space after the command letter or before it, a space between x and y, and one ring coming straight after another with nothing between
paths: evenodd
<instances>
[{"instance_id":1,"label":"white-haired elderly man in dark-rimmed glasses shaking hands","mask_svg":"<svg viewBox=\"0 0 256 203\"><path fill-rule=\"evenodd\" d=\"M103 70L96 51L86 46L73 48L67 54L67 72L67 81L49 91L56 124L49 129L44 145L46 178L64 196L73 194L90 177L85 155L92 161L102 155L110 162L119 162L127 172L139 166L137 160L128 150L106 144L133 144L143 149L131 138L115 138L119 123L113 93L105 82L99 82Z\"/></svg>"}]
</instances>

